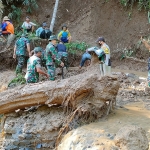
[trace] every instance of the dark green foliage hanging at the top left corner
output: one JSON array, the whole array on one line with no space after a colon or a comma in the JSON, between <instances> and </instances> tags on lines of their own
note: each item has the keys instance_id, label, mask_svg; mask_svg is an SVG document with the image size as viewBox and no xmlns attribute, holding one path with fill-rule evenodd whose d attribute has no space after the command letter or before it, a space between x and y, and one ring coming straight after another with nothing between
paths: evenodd
<instances>
[{"instance_id":1,"label":"dark green foliage hanging at the top left corner","mask_svg":"<svg viewBox=\"0 0 150 150\"><path fill-rule=\"evenodd\" d=\"M22 7L24 6L27 13L32 13L34 9L38 8L37 0L2 0L5 7L9 8L7 11L9 12L8 16L11 19L20 21L20 17L22 15Z\"/></svg>"}]
</instances>

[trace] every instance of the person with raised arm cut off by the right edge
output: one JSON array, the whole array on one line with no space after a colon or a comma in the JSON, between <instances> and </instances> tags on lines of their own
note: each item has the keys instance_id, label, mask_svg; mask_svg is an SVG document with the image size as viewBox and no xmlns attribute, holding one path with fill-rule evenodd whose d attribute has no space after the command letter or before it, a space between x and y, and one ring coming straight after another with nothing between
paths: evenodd
<instances>
[{"instance_id":1,"label":"person with raised arm cut off by the right edge","mask_svg":"<svg viewBox=\"0 0 150 150\"><path fill-rule=\"evenodd\" d=\"M150 52L150 45L148 44L148 42L145 39L143 39L142 37L141 37L141 41ZM147 77L147 81L148 81L148 87L150 87L150 57L148 59L148 77Z\"/></svg>"}]
</instances>

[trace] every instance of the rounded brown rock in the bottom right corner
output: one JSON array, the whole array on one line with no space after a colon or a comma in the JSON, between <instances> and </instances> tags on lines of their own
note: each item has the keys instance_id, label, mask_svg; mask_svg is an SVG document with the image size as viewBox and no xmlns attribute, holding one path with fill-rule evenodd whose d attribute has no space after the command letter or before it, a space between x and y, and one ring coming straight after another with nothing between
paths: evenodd
<instances>
[{"instance_id":1,"label":"rounded brown rock in the bottom right corner","mask_svg":"<svg viewBox=\"0 0 150 150\"><path fill-rule=\"evenodd\" d=\"M125 150L148 150L148 138L146 132L137 126L121 128L115 137L116 146Z\"/></svg>"}]
</instances>

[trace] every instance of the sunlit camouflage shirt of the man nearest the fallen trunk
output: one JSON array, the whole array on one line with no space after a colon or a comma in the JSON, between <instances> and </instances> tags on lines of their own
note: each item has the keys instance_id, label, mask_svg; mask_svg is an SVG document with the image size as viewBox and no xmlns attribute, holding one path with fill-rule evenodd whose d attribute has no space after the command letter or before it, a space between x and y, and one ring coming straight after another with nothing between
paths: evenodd
<instances>
[{"instance_id":1,"label":"sunlit camouflage shirt of the man nearest the fallen trunk","mask_svg":"<svg viewBox=\"0 0 150 150\"><path fill-rule=\"evenodd\" d=\"M27 62L26 80L29 83L36 83L39 80L39 73L36 71L36 67L41 68L41 59L35 55L30 57Z\"/></svg>"}]
</instances>

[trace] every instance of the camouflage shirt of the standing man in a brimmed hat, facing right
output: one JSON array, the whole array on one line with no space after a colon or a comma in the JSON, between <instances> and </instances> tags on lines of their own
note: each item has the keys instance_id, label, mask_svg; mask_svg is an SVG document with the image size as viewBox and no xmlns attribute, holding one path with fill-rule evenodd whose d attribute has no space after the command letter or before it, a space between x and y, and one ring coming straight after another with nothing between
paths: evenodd
<instances>
[{"instance_id":1,"label":"camouflage shirt of the standing man in a brimmed hat, facing right","mask_svg":"<svg viewBox=\"0 0 150 150\"><path fill-rule=\"evenodd\" d=\"M46 65L59 65L61 63L61 60L58 56L56 47L49 43L46 47Z\"/></svg>"}]
</instances>

